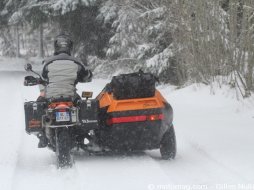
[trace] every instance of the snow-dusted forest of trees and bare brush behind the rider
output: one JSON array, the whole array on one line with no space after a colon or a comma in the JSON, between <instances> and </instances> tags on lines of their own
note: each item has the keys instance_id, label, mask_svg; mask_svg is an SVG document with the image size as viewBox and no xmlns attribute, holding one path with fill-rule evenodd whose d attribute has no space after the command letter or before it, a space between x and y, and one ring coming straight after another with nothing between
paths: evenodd
<instances>
[{"instance_id":1,"label":"snow-dusted forest of trees and bare brush behind the rider","mask_svg":"<svg viewBox=\"0 0 254 190\"><path fill-rule=\"evenodd\" d=\"M52 55L67 32L99 77L139 69L179 87L254 91L252 0L2 0L0 55Z\"/></svg>"}]
</instances>

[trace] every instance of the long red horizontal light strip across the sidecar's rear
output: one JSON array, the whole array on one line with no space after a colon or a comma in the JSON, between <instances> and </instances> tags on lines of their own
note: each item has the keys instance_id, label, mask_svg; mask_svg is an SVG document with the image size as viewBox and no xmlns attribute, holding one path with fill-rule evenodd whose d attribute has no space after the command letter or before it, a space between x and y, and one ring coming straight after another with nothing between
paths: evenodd
<instances>
[{"instance_id":1,"label":"long red horizontal light strip across the sidecar's rear","mask_svg":"<svg viewBox=\"0 0 254 190\"><path fill-rule=\"evenodd\" d=\"M108 125L119 124L119 123L133 123L142 121L158 121L163 120L163 114L154 115L138 115L138 116L128 116L128 117L113 117L107 120Z\"/></svg>"}]
</instances>

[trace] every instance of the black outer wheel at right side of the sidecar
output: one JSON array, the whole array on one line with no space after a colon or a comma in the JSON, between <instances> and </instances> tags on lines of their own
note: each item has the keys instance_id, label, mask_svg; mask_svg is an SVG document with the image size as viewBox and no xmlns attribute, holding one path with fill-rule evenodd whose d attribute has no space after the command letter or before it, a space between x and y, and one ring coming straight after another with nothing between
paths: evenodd
<instances>
[{"instance_id":1,"label":"black outer wheel at right side of the sidecar","mask_svg":"<svg viewBox=\"0 0 254 190\"><path fill-rule=\"evenodd\" d=\"M174 159L176 156L176 138L173 126L162 137L160 153L163 160Z\"/></svg>"}]
</instances>

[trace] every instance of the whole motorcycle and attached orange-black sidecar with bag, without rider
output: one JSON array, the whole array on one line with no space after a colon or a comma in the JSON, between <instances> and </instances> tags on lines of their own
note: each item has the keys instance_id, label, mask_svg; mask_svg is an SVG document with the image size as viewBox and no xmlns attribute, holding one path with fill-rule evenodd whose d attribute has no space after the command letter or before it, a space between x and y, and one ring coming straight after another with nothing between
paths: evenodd
<instances>
[{"instance_id":1,"label":"whole motorcycle and attached orange-black sidecar with bag, without rider","mask_svg":"<svg viewBox=\"0 0 254 190\"><path fill-rule=\"evenodd\" d=\"M47 86L31 64L25 70L38 76L26 76L25 86ZM46 137L58 167L72 166L73 148L89 153L160 149L162 159L174 159L173 109L155 88L155 80L143 72L119 75L95 99L92 92L82 92L83 99L25 102L26 132Z\"/></svg>"}]
</instances>

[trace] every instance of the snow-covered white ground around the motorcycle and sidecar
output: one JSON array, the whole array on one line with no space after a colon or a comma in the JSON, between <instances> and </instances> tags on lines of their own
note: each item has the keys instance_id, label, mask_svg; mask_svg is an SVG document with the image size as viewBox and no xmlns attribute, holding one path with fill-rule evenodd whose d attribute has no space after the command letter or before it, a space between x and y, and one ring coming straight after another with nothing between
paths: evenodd
<instances>
[{"instance_id":1,"label":"snow-covered white ground around the motorcycle and sidecar","mask_svg":"<svg viewBox=\"0 0 254 190\"><path fill-rule=\"evenodd\" d=\"M34 100L38 87L22 86L25 73L19 69L0 70L0 190L254 189L253 98L237 101L226 87L215 87L211 95L203 85L160 86L174 108L175 160L160 160L158 150L129 156L81 153L73 168L58 170L54 153L38 149L37 138L25 133L23 102ZM79 92L96 95L106 82L78 85Z\"/></svg>"}]
</instances>

